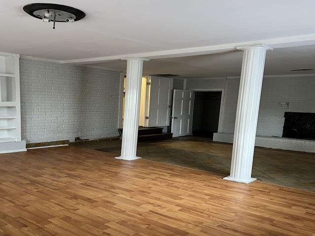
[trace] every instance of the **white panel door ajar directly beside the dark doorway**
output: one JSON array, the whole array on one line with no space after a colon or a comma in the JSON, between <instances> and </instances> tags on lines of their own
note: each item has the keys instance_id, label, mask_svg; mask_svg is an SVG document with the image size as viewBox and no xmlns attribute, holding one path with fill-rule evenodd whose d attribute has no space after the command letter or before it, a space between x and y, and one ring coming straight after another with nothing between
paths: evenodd
<instances>
[{"instance_id":1,"label":"white panel door ajar directly beside the dark doorway","mask_svg":"<svg viewBox=\"0 0 315 236\"><path fill-rule=\"evenodd\" d=\"M172 133L173 137L191 135L193 91L173 90Z\"/></svg>"}]
</instances>

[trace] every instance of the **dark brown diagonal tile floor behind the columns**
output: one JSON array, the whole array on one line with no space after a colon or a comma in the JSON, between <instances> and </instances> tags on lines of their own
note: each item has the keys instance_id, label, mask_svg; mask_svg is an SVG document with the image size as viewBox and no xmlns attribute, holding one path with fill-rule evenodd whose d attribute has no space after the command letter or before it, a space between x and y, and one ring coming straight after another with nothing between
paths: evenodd
<instances>
[{"instance_id":1,"label":"dark brown diagonal tile floor behind the columns","mask_svg":"<svg viewBox=\"0 0 315 236\"><path fill-rule=\"evenodd\" d=\"M120 155L121 142L99 141L72 144ZM201 171L229 175L232 145L208 138L187 136L164 142L138 143L144 159ZM255 148L252 177L276 185L315 192L315 154Z\"/></svg>"}]
</instances>

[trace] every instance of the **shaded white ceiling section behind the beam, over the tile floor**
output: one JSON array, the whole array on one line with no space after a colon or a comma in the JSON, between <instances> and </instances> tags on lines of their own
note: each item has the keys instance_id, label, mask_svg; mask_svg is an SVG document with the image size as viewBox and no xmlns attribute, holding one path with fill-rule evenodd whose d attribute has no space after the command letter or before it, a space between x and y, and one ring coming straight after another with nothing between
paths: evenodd
<instances>
[{"instance_id":1,"label":"shaded white ceiling section behind the beam, over the tile floor","mask_svg":"<svg viewBox=\"0 0 315 236\"><path fill-rule=\"evenodd\" d=\"M201 55L182 58L151 59L145 61L144 74L177 74L180 77L240 76L243 52ZM98 64L115 70L126 71L126 61L116 60ZM314 69L313 71L290 71L290 69ZM265 75L288 75L315 73L315 45L291 47L267 51Z\"/></svg>"}]
</instances>

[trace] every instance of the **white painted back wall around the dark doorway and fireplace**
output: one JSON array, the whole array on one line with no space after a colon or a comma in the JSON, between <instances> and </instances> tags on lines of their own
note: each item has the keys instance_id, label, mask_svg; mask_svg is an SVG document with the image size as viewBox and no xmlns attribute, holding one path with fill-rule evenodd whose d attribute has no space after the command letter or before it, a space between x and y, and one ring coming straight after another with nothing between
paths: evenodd
<instances>
[{"instance_id":1,"label":"white painted back wall around the dark doorway and fireplace","mask_svg":"<svg viewBox=\"0 0 315 236\"><path fill-rule=\"evenodd\" d=\"M188 79L187 89L225 88L222 128L234 133L239 83L237 78ZM289 109L280 102L289 102ZM281 137L284 112L315 113L315 76L264 77L256 134Z\"/></svg>"}]
</instances>

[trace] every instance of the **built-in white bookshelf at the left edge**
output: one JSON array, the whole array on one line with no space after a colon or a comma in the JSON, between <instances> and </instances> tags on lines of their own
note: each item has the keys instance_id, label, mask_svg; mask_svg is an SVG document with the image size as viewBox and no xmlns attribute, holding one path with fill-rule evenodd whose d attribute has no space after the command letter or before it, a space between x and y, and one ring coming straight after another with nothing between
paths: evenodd
<instances>
[{"instance_id":1,"label":"built-in white bookshelf at the left edge","mask_svg":"<svg viewBox=\"0 0 315 236\"><path fill-rule=\"evenodd\" d=\"M19 55L0 53L0 153L26 150L20 111Z\"/></svg>"}]
</instances>

